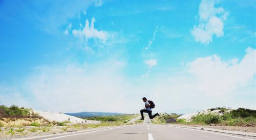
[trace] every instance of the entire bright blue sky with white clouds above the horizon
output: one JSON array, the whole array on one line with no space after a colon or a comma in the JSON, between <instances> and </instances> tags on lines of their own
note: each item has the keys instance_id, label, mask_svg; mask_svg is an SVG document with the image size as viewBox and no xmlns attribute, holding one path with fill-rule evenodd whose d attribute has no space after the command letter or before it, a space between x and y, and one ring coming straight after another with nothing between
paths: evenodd
<instances>
[{"instance_id":1,"label":"entire bright blue sky with white clouds above the horizon","mask_svg":"<svg viewBox=\"0 0 256 140\"><path fill-rule=\"evenodd\" d=\"M256 109L255 1L0 1L0 104Z\"/></svg>"}]
</instances>

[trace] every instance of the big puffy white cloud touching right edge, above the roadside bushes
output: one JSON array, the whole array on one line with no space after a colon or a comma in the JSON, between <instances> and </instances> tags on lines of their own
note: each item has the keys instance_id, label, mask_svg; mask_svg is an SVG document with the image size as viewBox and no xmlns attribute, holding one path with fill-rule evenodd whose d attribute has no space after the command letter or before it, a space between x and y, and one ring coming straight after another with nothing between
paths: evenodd
<instances>
[{"instance_id":1,"label":"big puffy white cloud touching right edge, above the roadside bushes","mask_svg":"<svg viewBox=\"0 0 256 140\"><path fill-rule=\"evenodd\" d=\"M248 47L245 57L238 62L222 61L217 55L197 58L188 64L189 73L195 76L196 88L210 96L222 96L232 93L247 82L253 80L256 74L256 50Z\"/></svg>"}]
</instances>

